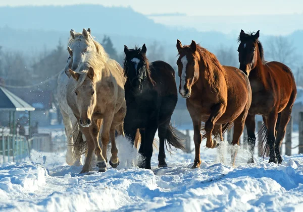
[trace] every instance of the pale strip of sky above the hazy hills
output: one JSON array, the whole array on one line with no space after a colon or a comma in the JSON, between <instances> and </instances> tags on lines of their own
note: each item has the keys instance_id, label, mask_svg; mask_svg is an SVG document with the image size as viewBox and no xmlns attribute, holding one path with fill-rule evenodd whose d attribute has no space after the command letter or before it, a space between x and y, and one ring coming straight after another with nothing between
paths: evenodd
<instances>
[{"instance_id":1,"label":"pale strip of sky above the hazy hills","mask_svg":"<svg viewBox=\"0 0 303 212\"><path fill-rule=\"evenodd\" d=\"M100 4L132 7L142 14L185 13L189 16L302 14L302 0L1 0L0 6Z\"/></svg>"}]
</instances>

